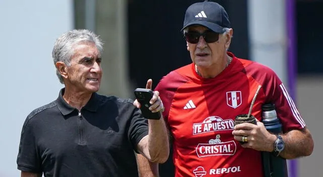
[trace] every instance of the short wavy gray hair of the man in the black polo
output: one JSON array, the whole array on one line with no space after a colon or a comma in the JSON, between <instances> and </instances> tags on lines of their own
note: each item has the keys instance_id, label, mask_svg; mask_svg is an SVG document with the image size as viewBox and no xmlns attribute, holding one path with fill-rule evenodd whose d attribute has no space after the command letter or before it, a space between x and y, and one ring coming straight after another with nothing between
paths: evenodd
<instances>
[{"instance_id":1,"label":"short wavy gray hair of the man in the black polo","mask_svg":"<svg viewBox=\"0 0 323 177\"><path fill-rule=\"evenodd\" d=\"M73 45L79 42L92 42L95 44L100 55L103 52L103 42L99 36L85 29L72 30L57 38L51 53L54 64L56 65L57 62L62 61L67 66L70 66L71 57L74 52ZM59 77L60 82L64 84L63 76L58 68L56 68L56 75Z\"/></svg>"}]
</instances>

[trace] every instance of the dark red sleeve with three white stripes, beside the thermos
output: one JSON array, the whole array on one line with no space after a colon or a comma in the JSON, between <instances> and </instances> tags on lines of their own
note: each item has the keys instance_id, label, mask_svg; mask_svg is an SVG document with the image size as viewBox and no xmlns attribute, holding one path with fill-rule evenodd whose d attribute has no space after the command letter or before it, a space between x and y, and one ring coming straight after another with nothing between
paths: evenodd
<instances>
[{"instance_id":1,"label":"dark red sleeve with three white stripes, beside the thermos","mask_svg":"<svg viewBox=\"0 0 323 177\"><path fill-rule=\"evenodd\" d=\"M293 99L274 71L270 73L270 80L267 81L267 87L269 86L267 91L267 102L275 104L277 116L283 124L284 132L304 128L306 126L305 122Z\"/></svg>"}]
</instances>

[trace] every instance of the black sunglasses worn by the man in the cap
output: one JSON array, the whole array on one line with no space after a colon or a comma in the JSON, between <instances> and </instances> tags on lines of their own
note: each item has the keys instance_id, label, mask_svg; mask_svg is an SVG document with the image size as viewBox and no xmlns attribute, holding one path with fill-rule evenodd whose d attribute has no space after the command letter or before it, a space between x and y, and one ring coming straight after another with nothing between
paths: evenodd
<instances>
[{"instance_id":1,"label":"black sunglasses worn by the man in the cap","mask_svg":"<svg viewBox=\"0 0 323 177\"><path fill-rule=\"evenodd\" d=\"M207 43L217 42L219 40L219 33L207 30L203 33L199 33L197 31L188 31L184 33L185 39L187 42L192 44L197 44L200 36L203 36L204 41Z\"/></svg>"}]
</instances>

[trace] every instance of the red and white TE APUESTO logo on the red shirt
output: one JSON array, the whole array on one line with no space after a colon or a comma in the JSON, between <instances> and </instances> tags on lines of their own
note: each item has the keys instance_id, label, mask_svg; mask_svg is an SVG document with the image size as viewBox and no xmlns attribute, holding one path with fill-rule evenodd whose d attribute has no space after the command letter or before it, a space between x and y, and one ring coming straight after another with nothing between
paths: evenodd
<instances>
[{"instance_id":1,"label":"red and white TE APUESTO logo on the red shirt","mask_svg":"<svg viewBox=\"0 0 323 177\"><path fill-rule=\"evenodd\" d=\"M193 135L222 130L233 130L233 128L234 121L232 119L223 120L218 116L210 116L204 119L202 123L193 124Z\"/></svg>"}]
</instances>

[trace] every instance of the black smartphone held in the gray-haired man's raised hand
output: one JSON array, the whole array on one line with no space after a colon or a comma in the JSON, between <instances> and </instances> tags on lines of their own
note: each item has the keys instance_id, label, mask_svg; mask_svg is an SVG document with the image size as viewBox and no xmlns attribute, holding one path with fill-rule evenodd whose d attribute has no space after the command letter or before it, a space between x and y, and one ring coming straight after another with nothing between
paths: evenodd
<instances>
[{"instance_id":1,"label":"black smartphone held in the gray-haired man's raised hand","mask_svg":"<svg viewBox=\"0 0 323 177\"><path fill-rule=\"evenodd\" d=\"M152 113L149 110L149 107L151 106L149 101L151 100L151 98L153 96L152 90L146 89L146 88L136 88L136 90L134 91L134 94L135 94L137 101L141 105L140 110L141 110L142 116L144 118L155 119L155 120L160 119L160 117L161 117L160 111L158 111L157 113Z\"/></svg>"}]
</instances>

